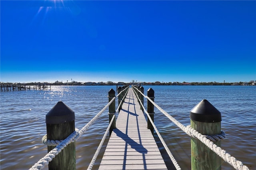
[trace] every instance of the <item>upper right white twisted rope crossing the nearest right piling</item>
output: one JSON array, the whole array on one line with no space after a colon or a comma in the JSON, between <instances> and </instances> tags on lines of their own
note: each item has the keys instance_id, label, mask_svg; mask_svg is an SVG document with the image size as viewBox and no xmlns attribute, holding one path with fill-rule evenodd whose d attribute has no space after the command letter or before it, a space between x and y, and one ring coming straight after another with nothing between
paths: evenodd
<instances>
[{"instance_id":1,"label":"upper right white twisted rope crossing the nearest right piling","mask_svg":"<svg viewBox=\"0 0 256 170\"><path fill-rule=\"evenodd\" d=\"M140 91L139 91L140 92ZM140 92L141 93L141 92ZM195 137L198 140L200 140L202 143L204 143L208 148L210 148L212 151L214 151L218 156L220 156L224 161L228 162L231 166L233 166L236 170L249 170L249 168L239 160L236 160L233 156L226 153L225 150L214 144L210 139L206 138L206 135L203 135L196 131L194 128L190 127L188 125L185 127L180 122L178 122L176 119L174 119L171 115L166 113L161 107L159 107L154 101L150 99L150 97L145 96L143 93L141 93L145 98L147 98L159 111L161 111L170 121L172 121L175 125L177 125L181 130L183 130L186 134L189 136Z\"/></svg>"}]
</instances>

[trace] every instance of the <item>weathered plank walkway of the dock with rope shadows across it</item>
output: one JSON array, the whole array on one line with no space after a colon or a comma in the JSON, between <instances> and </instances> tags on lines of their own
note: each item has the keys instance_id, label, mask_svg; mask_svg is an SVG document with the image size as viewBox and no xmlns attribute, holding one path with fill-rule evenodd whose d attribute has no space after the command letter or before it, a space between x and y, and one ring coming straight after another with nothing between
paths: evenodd
<instances>
[{"instance_id":1,"label":"weathered plank walkway of the dock with rope shadows across it","mask_svg":"<svg viewBox=\"0 0 256 170\"><path fill-rule=\"evenodd\" d=\"M136 95L130 88L116 120L100 170L167 170Z\"/></svg>"}]
</instances>

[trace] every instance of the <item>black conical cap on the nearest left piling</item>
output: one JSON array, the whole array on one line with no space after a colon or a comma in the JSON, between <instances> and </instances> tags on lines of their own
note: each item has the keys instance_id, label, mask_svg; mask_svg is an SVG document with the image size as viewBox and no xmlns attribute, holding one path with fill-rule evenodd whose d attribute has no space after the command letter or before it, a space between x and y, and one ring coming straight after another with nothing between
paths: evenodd
<instances>
[{"instance_id":1,"label":"black conical cap on the nearest left piling","mask_svg":"<svg viewBox=\"0 0 256 170\"><path fill-rule=\"evenodd\" d=\"M75 113L62 101L59 101L47 114L47 124L60 124L75 120Z\"/></svg>"}]
</instances>

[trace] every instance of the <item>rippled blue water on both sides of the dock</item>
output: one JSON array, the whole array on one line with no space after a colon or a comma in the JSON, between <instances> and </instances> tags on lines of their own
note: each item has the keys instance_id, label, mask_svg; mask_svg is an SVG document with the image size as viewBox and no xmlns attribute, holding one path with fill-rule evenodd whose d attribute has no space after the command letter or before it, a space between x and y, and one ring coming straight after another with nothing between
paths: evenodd
<instances>
[{"instance_id":1,"label":"rippled blue water on both sides of the dock","mask_svg":"<svg viewBox=\"0 0 256 170\"><path fill-rule=\"evenodd\" d=\"M150 87L155 91L155 102L185 126L190 124L190 110L207 99L222 114L222 130L227 135L222 148L256 170L256 87L144 86L144 94ZM41 142L46 134L45 115L58 101L75 112L76 128L81 129L108 103L110 88L116 91L116 86L56 86L48 91L0 92L1 170L29 169L47 154L47 147ZM86 169L90 164L108 126L107 113L76 142L77 169ZM190 138L156 108L155 123L181 168L191 169ZM104 149L94 169L98 169L103 152ZM164 158L169 161L165 155ZM222 169L234 168L223 162Z\"/></svg>"}]
</instances>

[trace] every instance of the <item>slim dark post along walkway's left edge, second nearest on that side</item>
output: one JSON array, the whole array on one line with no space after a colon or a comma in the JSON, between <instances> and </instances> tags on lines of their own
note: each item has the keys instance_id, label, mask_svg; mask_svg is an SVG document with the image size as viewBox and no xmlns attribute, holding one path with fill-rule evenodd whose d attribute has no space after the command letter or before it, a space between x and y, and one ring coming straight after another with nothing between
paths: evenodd
<instances>
[{"instance_id":1,"label":"slim dark post along walkway's left edge, second nearest on that side","mask_svg":"<svg viewBox=\"0 0 256 170\"><path fill-rule=\"evenodd\" d=\"M110 89L110 91L108 91L108 102L110 102L114 97L115 97L115 91L113 89ZM116 114L116 102L115 100L109 105L108 107L108 115L109 115L109 123L112 119L112 117ZM109 130L109 134L111 135L112 130L116 128L116 118L114 119L110 130Z\"/></svg>"}]
</instances>

